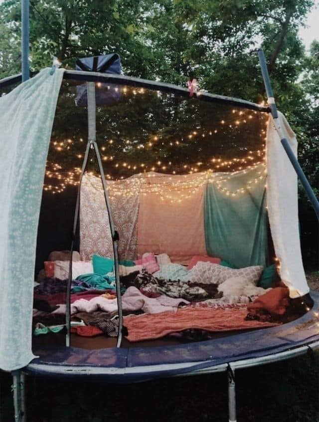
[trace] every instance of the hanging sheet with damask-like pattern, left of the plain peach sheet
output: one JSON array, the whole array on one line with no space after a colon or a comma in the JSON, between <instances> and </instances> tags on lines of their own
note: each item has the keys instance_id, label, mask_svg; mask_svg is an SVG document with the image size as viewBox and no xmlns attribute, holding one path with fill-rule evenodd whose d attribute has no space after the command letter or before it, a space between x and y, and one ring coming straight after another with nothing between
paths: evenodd
<instances>
[{"instance_id":1,"label":"hanging sheet with damask-like pattern, left of the plain peach sheet","mask_svg":"<svg viewBox=\"0 0 319 422\"><path fill-rule=\"evenodd\" d=\"M139 196L115 195L116 185L119 183L108 182L112 215L120 237L119 255L121 259L136 259ZM123 185L130 189L130 179L121 182L125 189ZM80 199L81 259L90 260L94 253L113 258L113 245L101 179L85 174Z\"/></svg>"}]
</instances>

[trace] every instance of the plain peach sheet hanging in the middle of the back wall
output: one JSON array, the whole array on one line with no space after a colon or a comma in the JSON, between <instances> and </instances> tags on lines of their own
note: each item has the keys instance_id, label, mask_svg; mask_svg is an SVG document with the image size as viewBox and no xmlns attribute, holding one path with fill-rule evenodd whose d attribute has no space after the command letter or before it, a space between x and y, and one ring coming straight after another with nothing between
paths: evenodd
<instances>
[{"instance_id":1,"label":"plain peach sheet hanging in the middle of the back wall","mask_svg":"<svg viewBox=\"0 0 319 422\"><path fill-rule=\"evenodd\" d=\"M140 195L138 254L167 253L174 262L186 263L193 255L205 255L204 175L151 174Z\"/></svg>"}]
</instances>

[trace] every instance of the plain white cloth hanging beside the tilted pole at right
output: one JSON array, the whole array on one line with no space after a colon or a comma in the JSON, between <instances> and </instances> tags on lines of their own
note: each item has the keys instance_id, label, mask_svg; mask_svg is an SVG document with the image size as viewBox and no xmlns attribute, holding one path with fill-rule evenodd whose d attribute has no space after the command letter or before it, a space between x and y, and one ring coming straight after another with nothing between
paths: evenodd
<instances>
[{"instance_id":1,"label":"plain white cloth hanging beside the tilted pole at right","mask_svg":"<svg viewBox=\"0 0 319 422\"><path fill-rule=\"evenodd\" d=\"M297 156L298 143L285 117L279 113L285 138ZM298 220L298 179L280 142L270 116L266 141L267 208L280 276L290 289L290 296L309 292L303 267Z\"/></svg>"}]
</instances>

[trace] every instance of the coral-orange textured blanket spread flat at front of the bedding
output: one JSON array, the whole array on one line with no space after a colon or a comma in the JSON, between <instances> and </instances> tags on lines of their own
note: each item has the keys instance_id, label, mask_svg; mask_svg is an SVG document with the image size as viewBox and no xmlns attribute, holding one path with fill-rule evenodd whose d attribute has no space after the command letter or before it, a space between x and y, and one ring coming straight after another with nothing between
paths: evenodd
<instances>
[{"instance_id":1,"label":"coral-orange textured blanket spread flat at front of the bedding","mask_svg":"<svg viewBox=\"0 0 319 422\"><path fill-rule=\"evenodd\" d=\"M247 308L211 309L187 307L177 313L131 315L124 318L128 329L126 338L131 342L164 337L167 334L197 328L207 331L247 330L278 325L261 321L246 321Z\"/></svg>"}]
</instances>

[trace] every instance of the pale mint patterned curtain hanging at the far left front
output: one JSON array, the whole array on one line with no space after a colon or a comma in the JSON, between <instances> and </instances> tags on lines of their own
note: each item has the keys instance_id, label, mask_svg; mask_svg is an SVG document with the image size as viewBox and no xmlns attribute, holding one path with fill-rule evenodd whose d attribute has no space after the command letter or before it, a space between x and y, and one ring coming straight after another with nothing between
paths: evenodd
<instances>
[{"instance_id":1,"label":"pale mint patterned curtain hanging at the far left front","mask_svg":"<svg viewBox=\"0 0 319 422\"><path fill-rule=\"evenodd\" d=\"M0 369L27 365L34 264L48 146L63 69L0 97Z\"/></svg>"}]
</instances>

